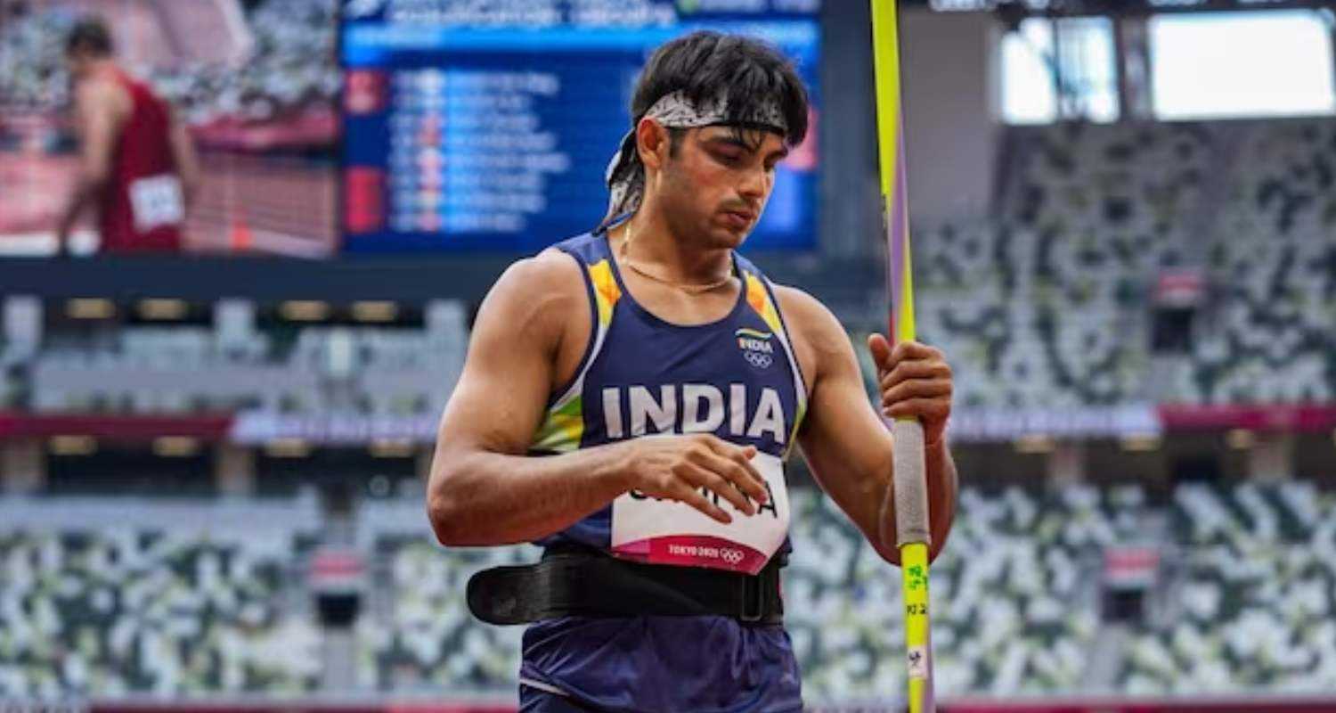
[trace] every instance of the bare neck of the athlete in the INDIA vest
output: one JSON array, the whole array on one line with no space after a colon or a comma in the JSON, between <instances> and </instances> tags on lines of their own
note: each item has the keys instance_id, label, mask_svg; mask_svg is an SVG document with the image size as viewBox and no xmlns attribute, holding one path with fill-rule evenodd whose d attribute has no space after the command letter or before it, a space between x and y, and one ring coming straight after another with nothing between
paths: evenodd
<instances>
[{"instance_id":1,"label":"bare neck of the athlete in the INDIA vest","mask_svg":"<svg viewBox=\"0 0 1336 713\"><path fill-rule=\"evenodd\" d=\"M688 235L677 235L653 211L640 210L609 235L617 241L623 260L652 269L655 277L669 282L709 285L727 280L732 272L731 249L703 246Z\"/></svg>"}]
</instances>

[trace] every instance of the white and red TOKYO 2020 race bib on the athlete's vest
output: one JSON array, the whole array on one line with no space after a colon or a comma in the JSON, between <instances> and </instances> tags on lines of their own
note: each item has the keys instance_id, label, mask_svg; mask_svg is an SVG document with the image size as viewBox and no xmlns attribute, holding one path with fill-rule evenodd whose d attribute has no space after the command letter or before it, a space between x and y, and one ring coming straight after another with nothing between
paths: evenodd
<instances>
[{"instance_id":1,"label":"white and red TOKYO 2020 race bib on the athlete's vest","mask_svg":"<svg viewBox=\"0 0 1336 713\"><path fill-rule=\"evenodd\" d=\"M784 463L770 453L756 453L752 466L766 479L770 500L747 515L728 500L703 491L728 512L724 524L675 500L657 500L631 491L612 502L612 554L652 565L711 567L756 574L788 535L788 488Z\"/></svg>"}]
</instances>

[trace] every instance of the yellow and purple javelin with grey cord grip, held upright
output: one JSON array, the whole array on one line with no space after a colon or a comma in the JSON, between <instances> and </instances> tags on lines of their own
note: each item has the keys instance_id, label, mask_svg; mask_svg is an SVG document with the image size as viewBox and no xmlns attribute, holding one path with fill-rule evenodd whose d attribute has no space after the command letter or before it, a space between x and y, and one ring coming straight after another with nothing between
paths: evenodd
<instances>
[{"instance_id":1,"label":"yellow and purple javelin with grey cord grip, held upright","mask_svg":"<svg viewBox=\"0 0 1336 713\"><path fill-rule=\"evenodd\" d=\"M882 209L887 238L887 286L891 293L890 337L914 338L914 280L910 268L910 229L904 186L904 131L900 119L900 51L895 0L872 3L872 62L876 72L876 143L882 169ZM923 427L918 419L896 419L895 543L900 550L904 591L904 643L908 662L908 710L931 713L933 639L927 617L927 554L930 544L927 482L923 466ZM883 527L888 518L882 518ZM883 542L891 532L882 532Z\"/></svg>"}]
</instances>

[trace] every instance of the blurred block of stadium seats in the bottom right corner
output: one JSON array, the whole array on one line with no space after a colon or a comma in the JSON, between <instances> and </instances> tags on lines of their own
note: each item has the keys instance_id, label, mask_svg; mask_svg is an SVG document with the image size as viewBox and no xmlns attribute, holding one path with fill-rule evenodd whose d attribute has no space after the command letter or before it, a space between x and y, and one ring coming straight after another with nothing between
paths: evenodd
<instances>
[{"instance_id":1,"label":"blurred block of stadium seats in the bottom right corner","mask_svg":"<svg viewBox=\"0 0 1336 713\"><path fill-rule=\"evenodd\" d=\"M1181 486L1170 623L1129 642L1128 693L1336 686L1336 499L1312 483Z\"/></svg>"}]
</instances>

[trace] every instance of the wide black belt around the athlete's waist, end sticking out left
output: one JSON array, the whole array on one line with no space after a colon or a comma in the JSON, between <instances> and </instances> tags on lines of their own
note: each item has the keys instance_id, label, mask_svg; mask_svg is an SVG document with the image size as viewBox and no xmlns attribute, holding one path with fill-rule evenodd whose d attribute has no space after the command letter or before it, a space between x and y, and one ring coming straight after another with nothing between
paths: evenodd
<instances>
[{"instance_id":1,"label":"wide black belt around the athlete's waist, end sticking out left","mask_svg":"<svg viewBox=\"0 0 1336 713\"><path fill-rule=\"evenodd\" d=\"M715 614L743 623L779 623L782 556L756 575L640 565L603 551L560 544L540 562L492 567L469 578L473 615L498 625L557 617L692 617Z\"/></svg>"}]
</instances>

